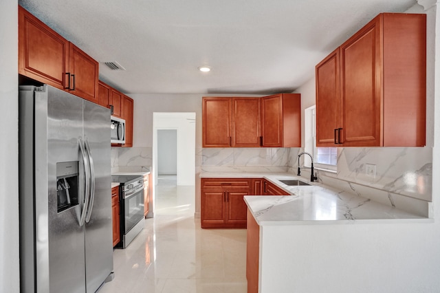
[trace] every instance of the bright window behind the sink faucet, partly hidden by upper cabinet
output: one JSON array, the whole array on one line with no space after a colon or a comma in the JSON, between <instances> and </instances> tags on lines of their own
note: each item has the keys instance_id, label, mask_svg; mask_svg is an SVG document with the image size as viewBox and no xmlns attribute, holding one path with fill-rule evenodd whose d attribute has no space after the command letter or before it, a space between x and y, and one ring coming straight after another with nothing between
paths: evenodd
<instances>
[{"instance_id":1,"label":"bright window behind the sink faucet, partly hidden by upper cabinet","mask_svg":"<svg viewBox=\"0 0 440 293\"><path fill-rule=\"evenodd\" d=\"M314 167L336 171L338 148L316 147L316 106L305 109L305 151L314 158ZM305 158L305 166L310 166L309 158Z\"/></svg>"}]
</instances>

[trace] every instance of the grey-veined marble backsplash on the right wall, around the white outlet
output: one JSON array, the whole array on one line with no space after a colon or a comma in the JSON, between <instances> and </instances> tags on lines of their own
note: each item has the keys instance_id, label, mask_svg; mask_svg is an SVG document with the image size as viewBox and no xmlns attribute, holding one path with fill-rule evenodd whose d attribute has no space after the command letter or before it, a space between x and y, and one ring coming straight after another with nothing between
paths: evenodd
<instances>
[{"instance_id":1,"label":"grey-veined marble backsplash on the right wall, around the white outlet","mask_svg":"<svg viewBox=\"0 0 440 293\"><path fill-rule=\"evenodd\" d=\"M375 176L366 166L375 166ZM296 162L289 172L296 173ZM432 215L432 148L377 147L338 148L338 172L317 170L318 181L342 191L355 193L408 210L417 215ZM305 169L303 177L309 178Z\"/></svg>"}]
</instances>

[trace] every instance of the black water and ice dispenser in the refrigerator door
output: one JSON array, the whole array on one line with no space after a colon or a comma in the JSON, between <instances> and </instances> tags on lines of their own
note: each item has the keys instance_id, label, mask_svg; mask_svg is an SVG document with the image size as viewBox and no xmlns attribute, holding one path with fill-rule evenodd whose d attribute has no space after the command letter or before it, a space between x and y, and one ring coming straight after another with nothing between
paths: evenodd
<instances>
[{"instance_id":1,"label":"black water and ice dispenser in the refrigerator door","mask_svg":"<svg viewBox=\"0 0 440 293\"><path fill-rule=\"evenodd\" d=\"M79 162L56 163L56 201L58 213L79 203Z\"/></svg>"}]
</instances>

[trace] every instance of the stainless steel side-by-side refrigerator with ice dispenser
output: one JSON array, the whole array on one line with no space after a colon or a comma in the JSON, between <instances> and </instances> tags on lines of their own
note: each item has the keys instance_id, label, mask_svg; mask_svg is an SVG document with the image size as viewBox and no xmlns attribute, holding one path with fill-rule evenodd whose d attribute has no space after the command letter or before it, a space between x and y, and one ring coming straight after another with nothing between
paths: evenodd
<instances>
[{"instance_id":1,"label":"stainless steel side-by-side refrigerator with ice dispenser","mask_svg":"<svg viewBox=\"0 0 440 293\"><path fill-rule=\"evenodd\" d=\"M21 292L96 292L113 276L110 111L19 90Z\"/></svg>"}]
</instances>

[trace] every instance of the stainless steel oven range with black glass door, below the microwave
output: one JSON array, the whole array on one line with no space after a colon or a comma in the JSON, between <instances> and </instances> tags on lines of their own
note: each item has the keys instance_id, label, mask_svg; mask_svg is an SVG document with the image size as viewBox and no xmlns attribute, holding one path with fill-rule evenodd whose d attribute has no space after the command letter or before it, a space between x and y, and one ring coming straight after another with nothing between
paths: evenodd
<instances>
[{"instance_id":1,"label":"stainless steel oven range with black glass door, below the microwave","mask_svg":"<svg viewBox=\"0 0 440 293\"><path fill-rule=\"evenodd\" d=\"M113 175L111 181L120 183L121 241L115 247L126 248L144 228L144 177Z\"/></svg>"}]
</instances>

